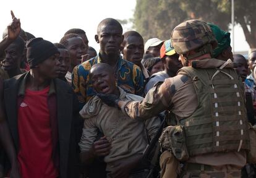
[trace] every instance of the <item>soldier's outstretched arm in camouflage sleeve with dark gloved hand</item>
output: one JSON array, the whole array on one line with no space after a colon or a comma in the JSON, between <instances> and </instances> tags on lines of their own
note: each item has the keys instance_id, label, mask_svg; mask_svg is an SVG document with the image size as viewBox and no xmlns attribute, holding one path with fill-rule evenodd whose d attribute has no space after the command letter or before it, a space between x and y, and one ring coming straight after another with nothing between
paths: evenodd
<instances>
[{"instance_id":1,"label":"soldier's outstretched arm in camouflage sleeve with dark gloved hand","mask_svg":"<svg viewBox=\"0 0 256 178\"><path fill-rule=\"evenodd\" d=\"M99 93L98 97L109 106L121 108L122 112L132 119L146 120L171 108L174 94L188 81L188 78L186 75L167 78L163 84L157 83L151 88L142 101L123 101L113 94Z\"/></svg>"}]
</instances>

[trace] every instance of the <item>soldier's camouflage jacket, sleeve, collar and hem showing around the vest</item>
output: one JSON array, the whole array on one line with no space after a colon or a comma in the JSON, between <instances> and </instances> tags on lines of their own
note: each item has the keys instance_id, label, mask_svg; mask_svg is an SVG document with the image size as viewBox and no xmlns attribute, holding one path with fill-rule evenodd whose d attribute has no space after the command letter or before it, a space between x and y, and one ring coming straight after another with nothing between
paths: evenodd
<instances>
[{"instance_id":1,"label":"soldier's camouflage jacket, sleeve, collar and hem showing around the vest","mask_svg":"<svg viewBox=\"0 0 256 178\"><path fill-rule=\"evenodd\" d=\"M202 59L194 61L197 68L208 69L220 67L226 61L218 59ZM226 67L234 67L228 64ZM122 106L122 112L132 119L145 120L156 114L171 109L177 119L189 117L197 108L198 101L192 78L178 74L172 78L166 78L161 85L156 85L148 91L142 101L127 101ZM218 157L218 159L217 159ZM233 164L238 167L246 163L244 151L230 153L209 153L201 156L190 157L187 162L221 166Z\"/></svg>"}]
</instances>

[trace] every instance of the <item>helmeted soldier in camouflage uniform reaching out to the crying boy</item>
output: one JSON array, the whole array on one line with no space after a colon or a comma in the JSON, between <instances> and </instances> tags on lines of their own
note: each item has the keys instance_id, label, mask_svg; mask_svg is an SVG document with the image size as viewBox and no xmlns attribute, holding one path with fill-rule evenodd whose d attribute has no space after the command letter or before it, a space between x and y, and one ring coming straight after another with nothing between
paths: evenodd
<instances>
[{"instance_id":1,"label":"helmeted soldier in camouflage uniform reaching out to the crying boy","mask_svg":"<svg viewBox=\"0 0 256 178\"><path fill-rule=\"evenodd\" d=\"M169 177L241 177L250 150L241 78L231 60L211 58L216 39L206 22L181 23L171 40L186 66L176 77L156 85L143 101L121 101L115 95L100 95L101 100L136 120L173 111L178 125L162 140L171 143L166 151L184 166L181 172L169 172Z\"/></svg>"}]
</instances>

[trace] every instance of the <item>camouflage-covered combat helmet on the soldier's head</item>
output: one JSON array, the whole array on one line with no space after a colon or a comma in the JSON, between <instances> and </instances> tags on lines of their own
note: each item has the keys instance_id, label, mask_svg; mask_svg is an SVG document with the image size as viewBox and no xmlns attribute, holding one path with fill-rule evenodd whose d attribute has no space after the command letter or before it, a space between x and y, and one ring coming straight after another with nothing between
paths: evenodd
<instances>
[{"instance_id":1,"label":"camouflage-covered combat helmet on the soldier's head","mask_svg":"<svg viewBox=\"0 0 256 178\"><path fill-rule=\"evenodd\" d=\"M171 45L177 54L186 54L194 50L197 53L187 56L193 59L203 54L212 53L217 41L207 22L203 20L187 20L177 25L171 33Z\"/></svg>"}]
</instances>

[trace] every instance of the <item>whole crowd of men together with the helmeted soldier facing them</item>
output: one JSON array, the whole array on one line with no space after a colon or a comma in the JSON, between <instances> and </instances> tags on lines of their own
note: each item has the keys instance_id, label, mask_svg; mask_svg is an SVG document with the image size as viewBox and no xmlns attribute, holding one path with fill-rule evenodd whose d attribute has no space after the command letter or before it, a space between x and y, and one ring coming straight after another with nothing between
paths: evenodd
<instances>
[{"instance_id":1,"label":"whole crowd of men together with the helmeted soldier facing them","mask_svg":"<svg viewBox=\"0 0 256 178\"><path fill-rule=\"evenodd\" d=\"M0 177L255 177L256 51L187 20L144 43L104 19L51 43L0 42ZM50 39L49 39L50 40Z\"/></svg>"}]
</instances>

